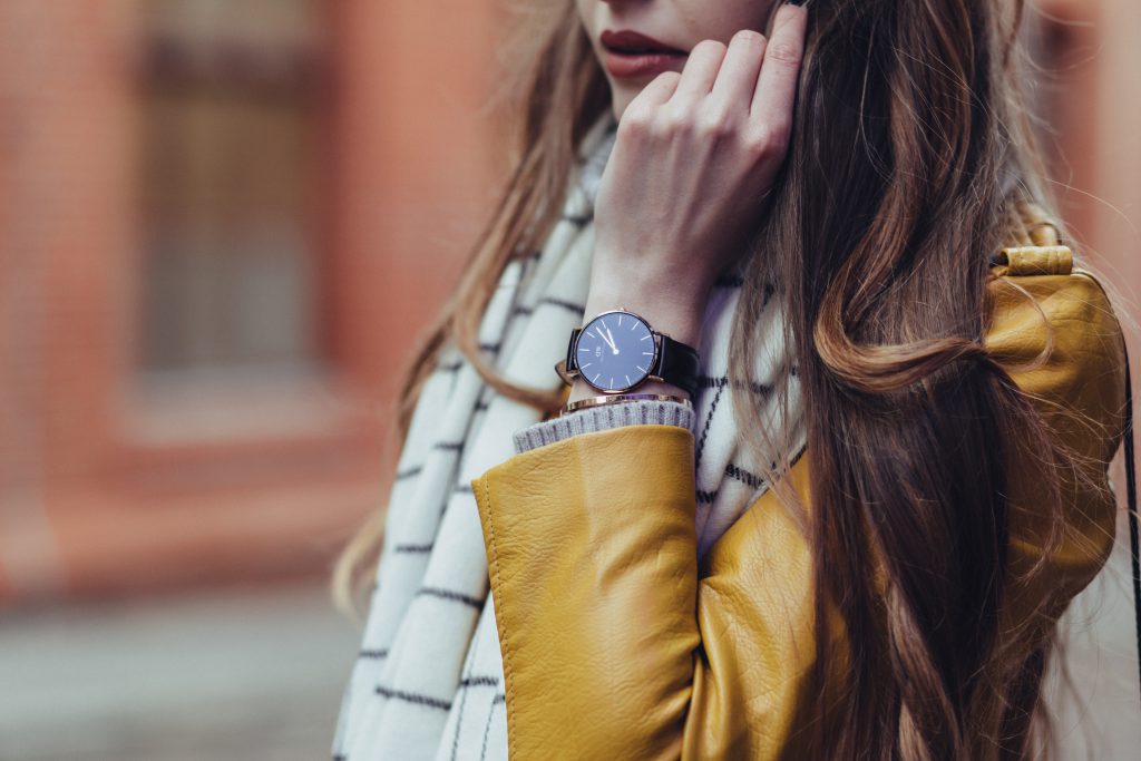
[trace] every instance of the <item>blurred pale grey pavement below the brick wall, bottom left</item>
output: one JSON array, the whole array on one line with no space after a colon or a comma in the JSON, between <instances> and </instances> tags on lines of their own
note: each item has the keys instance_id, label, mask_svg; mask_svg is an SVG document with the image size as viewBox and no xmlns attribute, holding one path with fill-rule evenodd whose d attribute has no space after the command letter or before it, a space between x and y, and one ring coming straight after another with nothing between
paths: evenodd
<instances>
[{"instance_id":1,"label":"blurred pale grey pavement below the brick wall, bottom left","mask_svg":"<svg viewBox=\"0 0 1141 761\"><path fill-rule=\"evenodd\" d=\"M326 759L358 642L319 581L0 613L0 760Z\"/></svg>"}]
</instances>

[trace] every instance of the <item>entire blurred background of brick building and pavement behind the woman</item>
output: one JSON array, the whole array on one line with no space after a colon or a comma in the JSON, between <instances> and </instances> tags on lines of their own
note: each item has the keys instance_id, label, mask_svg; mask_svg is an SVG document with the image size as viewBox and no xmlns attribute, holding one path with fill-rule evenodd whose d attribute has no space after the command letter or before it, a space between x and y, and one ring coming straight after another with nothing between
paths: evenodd
<instances>
[{"instance_id":1,"label":"entire blurred background of brick building and pavement behind the woman","mask_svg":"<svg viewBox=\"0 0 1141 761\"><path fill-rule=\"evenodd\" d=\"M1066 216L1135 306L1141 3L1037 5ZM324 584L501 177L504 8L0 0L0 759L324 756Z\"/></svg>"}]
</instances>

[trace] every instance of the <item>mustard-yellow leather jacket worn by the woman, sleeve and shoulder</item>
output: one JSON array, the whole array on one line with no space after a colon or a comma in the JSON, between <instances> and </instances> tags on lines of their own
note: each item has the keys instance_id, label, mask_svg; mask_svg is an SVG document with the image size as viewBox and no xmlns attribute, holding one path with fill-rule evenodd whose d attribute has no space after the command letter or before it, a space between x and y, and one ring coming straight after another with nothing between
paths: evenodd
<instances>
[{"instance_id":1,"label":"mustard-yellow leather jacket worn by the woman, sleeve and shoulder","mask_svg":"<svg viewBox=\"0 0 1141 761\"><path fill-rule=\"evenodd\" d=\"M1067 505L1071 535L1043 557L1035 465L1010 464L1011 570L1044 559L1049 573L1009 590L1006 624L1041 602L1060 615L1108 558L1106 470L1125 426L1108 299L1067 249L1041 245L1057 241L1026 243L1038 245L1004 250L993 268L986 342L1089 480ZM689 430L629 426L517 454L471 481L512 759L801 758L793 735L815 657L809 544L769 491L699 569L693 463ZM806 505L808 463L788 475Z\"/></svg>"}]
</instances>

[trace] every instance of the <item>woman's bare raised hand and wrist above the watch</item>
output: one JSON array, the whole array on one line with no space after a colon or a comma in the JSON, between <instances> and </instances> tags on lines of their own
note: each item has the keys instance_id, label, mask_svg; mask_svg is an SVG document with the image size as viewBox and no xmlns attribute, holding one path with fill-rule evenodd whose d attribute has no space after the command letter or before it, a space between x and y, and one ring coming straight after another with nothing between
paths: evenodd
<instances>
[{"instance_id":1,"label":"woman's bare raised hand and wrist above the watch","mask_svg":"<svg viewBox=\"0 0 1141 761\"><path fill-rule=\"evenodd\" d=\"M694 342L709 290L755 233L788 149L806 14L786 5L770 40L706 40L683 71L630 103L602 173L589 319L624 306Z\"/></svg>"}]
</instances>

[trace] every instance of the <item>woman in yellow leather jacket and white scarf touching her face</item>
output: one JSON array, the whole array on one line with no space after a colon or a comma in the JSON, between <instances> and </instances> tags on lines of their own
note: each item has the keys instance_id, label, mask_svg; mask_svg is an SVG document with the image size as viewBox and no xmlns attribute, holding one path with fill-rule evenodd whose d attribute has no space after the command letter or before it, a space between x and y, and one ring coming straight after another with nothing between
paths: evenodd
<instances>
[{"instance_id":1,"label":"woman in yellow leather jacket and white scarf touching her face","mask_svg":"<svg viewBox=\"0 0 1141 761\"><path fill-rule=\"evenodd\" d=\"M553 5L334 756L1046 746L1127 382L1039 205L1019 3Z\"/></svg>"}]
</instances>

